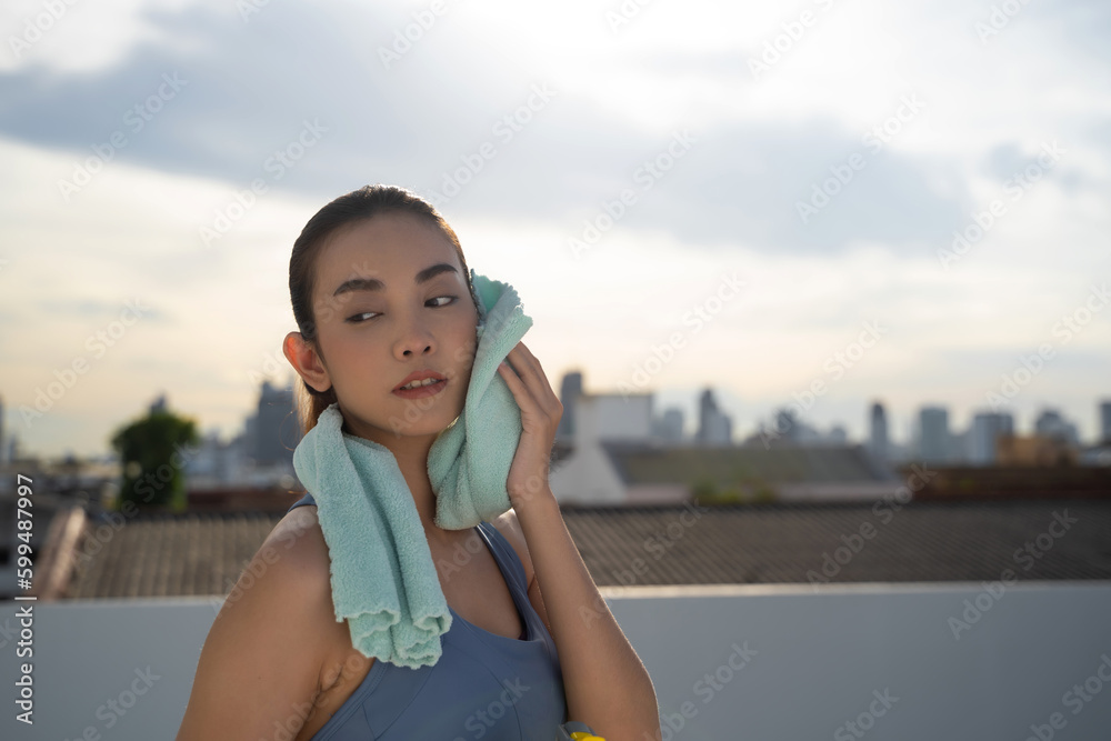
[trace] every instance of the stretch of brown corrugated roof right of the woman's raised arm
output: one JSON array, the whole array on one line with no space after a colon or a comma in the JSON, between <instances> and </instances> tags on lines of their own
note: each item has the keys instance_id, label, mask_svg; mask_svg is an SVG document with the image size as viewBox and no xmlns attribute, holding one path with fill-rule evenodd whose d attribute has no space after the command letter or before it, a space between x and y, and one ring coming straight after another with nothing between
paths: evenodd
<instances>
[{"instance_id":1,"label":"stretch of brown corrugated roof right of the woman's raised arm","mask_svg":"<svg viewBox=\"0 0 1111 741\"><path fill-rule=\"evenodd\" d=\"M731 504L698 519L682 505L568 507L563 519L598 585L630 571L635 584L982 581L1007 569L1021 580L1111 579L1111 501L898 505ZM1064 530L1057 515L1077 522Z\"/></svg>"}]
</instances>

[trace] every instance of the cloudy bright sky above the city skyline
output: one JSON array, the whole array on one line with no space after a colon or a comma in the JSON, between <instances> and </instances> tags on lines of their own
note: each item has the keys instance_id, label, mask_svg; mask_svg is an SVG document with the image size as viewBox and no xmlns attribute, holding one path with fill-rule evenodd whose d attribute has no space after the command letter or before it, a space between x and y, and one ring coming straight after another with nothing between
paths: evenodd
<instances>
[{"instance_id":1,"label":"cloudy bright sky above the city skyline","mask_svg":"<svg viewBox=\"0 0 1111 741\"><path fill-rule=\"evenodd\" d=\"M292 373L289 256L368 183L512 284L556 390L897 440L1111 399L1111 7L11 1L0 398L102 454Z\"/></svg>"}]
</instances>

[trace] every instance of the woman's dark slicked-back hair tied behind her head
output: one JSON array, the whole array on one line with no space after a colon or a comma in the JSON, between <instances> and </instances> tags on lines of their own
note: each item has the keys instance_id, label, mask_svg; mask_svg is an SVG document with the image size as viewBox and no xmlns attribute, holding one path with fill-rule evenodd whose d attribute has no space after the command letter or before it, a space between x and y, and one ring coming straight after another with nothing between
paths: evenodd
<instances>
[{"instance_id":1,"label":"woman's dark slicked-back hair tied behind her head","mask_svg":"<svg viewBox=\"0 0 1111 741\"><path fill-rule=\"evenodd\" d=\"M459 263L463 268L467 287L471 291L471 300L479 309L474 286L471 283L470 270L463 257L463 248L454 230L436 208L417 193L397 186L363 186L346 196L340 196L317 211L301 230L301 236L293 242L293 253L289 259L289 298L293 304L293 319L298 331L307 342L311 342L320 353L320 342L317 337L317 319L312 307L312 289L316 283L317 256L328 238L341 227L366 221L381 213L411 213L437 227L456 248ZM331 307L323 307L331 311ZM304 434L317 424L320 412L334 403L336 387L327 391L317 391L301 379L297 387L297 411Z\"/></svg>"}]
</instances>

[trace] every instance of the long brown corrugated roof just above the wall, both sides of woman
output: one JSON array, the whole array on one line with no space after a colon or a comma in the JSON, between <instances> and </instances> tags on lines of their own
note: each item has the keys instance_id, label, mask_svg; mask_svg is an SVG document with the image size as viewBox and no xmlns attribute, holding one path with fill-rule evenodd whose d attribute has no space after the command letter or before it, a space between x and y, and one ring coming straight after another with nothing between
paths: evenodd
<instances>
[{"instance_id":1,"label":"long brown corrugated roof just above the wall, both sides of woman","mask_svg":"<svg viewBox=\"0 0 1111 741\"><path fill-rule=\"evenodd\" d=\"M1020 580L1111 579L1111 500L910 502L899 511L872 502L564 505L562 513L600 587L979 582L1007 569ZM62 595L224 595L281 517L140 514L102 537L92 520ZM1033 551L1022 550L1028 543Z\"/></svg>"}]
</instances>

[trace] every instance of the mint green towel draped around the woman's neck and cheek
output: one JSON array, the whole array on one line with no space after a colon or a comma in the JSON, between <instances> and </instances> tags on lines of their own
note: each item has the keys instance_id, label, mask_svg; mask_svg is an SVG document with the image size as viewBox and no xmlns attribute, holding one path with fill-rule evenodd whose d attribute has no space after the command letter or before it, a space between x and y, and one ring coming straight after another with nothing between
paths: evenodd
<instances>
[{"instance_id":1,"label":"mint green towel draped around the woman's neck and cheek","mask_svg":"<svg viewBox=\"0 0 1111 741\"><path fill-rule=\"evenodd\" d=\"M479 338L463 411L432 443L436 523L466 530L510 508L506 480L521 438L521 411L498 364L532 327L517 291L471 270ZM336 621L366 657L417 669L434 664L451 612L412 493L388 448L342 431L337 404L293 451L293 469L317 502L331 560Z\"/></svg>"}]
</instances>

